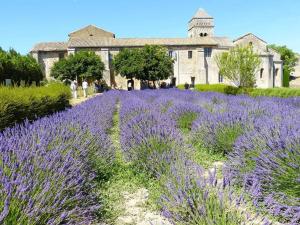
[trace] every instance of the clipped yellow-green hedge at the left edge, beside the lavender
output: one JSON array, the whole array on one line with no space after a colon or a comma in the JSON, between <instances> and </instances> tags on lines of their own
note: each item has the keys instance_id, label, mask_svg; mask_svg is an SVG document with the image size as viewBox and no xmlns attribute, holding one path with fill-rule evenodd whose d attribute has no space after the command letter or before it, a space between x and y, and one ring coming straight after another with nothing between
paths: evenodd
<instances>
[{"instance_id":1,"label":"clipped yellow-green hedge at the left edge, beside the lavender","mask_svg":"<svg viewBox=\"0 0 300 225\"><path fill-rule=\"evenodd\" d=\"M0 87L0 130L35 120L69 107L70 88L63 84L45 87Z\"/></svg>"}]
</instances>

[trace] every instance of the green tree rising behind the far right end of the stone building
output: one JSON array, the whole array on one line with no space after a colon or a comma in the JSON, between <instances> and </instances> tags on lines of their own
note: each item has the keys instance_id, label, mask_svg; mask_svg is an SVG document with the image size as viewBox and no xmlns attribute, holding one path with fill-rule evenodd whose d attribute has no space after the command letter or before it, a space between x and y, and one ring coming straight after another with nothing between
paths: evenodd
<instances>
[{"instance_id":1,"label":"green tree rising behind the far right end of the stone building","mask_svg":"<svg viewBox=\"0 0 300 225\"><path fill-rule=\"evenodd\" d=\"M292 72L295 71L295 66L298 61L297 55L287 46L269 45L269 48L274 49L281 55L283 61L283 86L289 86L289 79Z\"/></svg>"}]
</instances>

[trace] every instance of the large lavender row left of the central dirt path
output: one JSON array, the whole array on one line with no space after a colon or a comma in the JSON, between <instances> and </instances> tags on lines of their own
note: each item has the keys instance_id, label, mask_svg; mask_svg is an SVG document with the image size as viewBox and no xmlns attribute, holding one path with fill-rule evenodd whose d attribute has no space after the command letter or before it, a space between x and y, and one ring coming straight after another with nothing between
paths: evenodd
<instances>
[{"instance_id":1,"label":"large lavender row left of the central dirt path","mask_svg":"<svg viewBox=\"0 0 300 225\"><path fill-rule=\"evenodd\" d=\"M114 159L107 130L116 100L106 94L0 134L1 224L94 220L93 163L105 170Z\"/></svg>"}]
</instances>

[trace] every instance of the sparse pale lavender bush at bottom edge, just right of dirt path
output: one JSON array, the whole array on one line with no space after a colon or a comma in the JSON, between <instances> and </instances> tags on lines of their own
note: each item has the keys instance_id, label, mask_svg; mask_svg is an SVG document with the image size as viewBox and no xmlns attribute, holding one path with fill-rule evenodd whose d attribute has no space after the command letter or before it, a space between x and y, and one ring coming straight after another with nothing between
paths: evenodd
<instances>
[{"instance_id":1,"label":"sparse pale lavender bush at bottom edge, just right of dirt path","mask_svg":"<svg viewBox=\"0 0 300 225\"><path fill-rule=\"evenodd\" d=\"M205 177L205 171L191 163L172 167L160 202L163 215L183 225L245 224L245 213L237 209L241 203L241 198L219 184L215 170ZM248 217L247 221L253 219Z\"/></svg>"}]
</instances>

